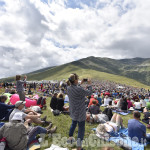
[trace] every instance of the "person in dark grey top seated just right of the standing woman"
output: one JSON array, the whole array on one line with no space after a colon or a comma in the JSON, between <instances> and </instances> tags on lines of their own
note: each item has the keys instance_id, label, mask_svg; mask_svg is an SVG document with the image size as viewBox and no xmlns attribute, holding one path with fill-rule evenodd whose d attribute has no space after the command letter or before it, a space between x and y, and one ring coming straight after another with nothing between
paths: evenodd
<instances>
[{"instance_id":1,"label":"person in dark grey top seated just right of the standing woman","mask_svg":"<svg viewBox=\"0 0 150 150\"><path fill-rule=\"evenodd\" d=\"M93 100L92 105L88 108L89 113L94 114L94 115L100 113L100 107L97 106L96 104L97 104L96 100Z\"/></svg>"}]
</instances>

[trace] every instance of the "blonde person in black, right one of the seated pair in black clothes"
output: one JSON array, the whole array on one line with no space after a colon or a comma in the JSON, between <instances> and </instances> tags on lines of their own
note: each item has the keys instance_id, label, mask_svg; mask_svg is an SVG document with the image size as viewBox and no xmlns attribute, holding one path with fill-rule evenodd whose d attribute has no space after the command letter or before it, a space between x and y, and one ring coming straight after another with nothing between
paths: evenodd
<instances>
[{"instance_id":1,"label":"blonde person in black, right one of the seated pair in black clothes","mask_svg":"<svg viewBox=\"0 0 150 150\"><path fill-rule=\"evenodd\" d=\"M57 95L57 105L56 109L59 111L68 111L69 107L64 106L64 96L62 93Z\"/></svg>"}]
</instances>

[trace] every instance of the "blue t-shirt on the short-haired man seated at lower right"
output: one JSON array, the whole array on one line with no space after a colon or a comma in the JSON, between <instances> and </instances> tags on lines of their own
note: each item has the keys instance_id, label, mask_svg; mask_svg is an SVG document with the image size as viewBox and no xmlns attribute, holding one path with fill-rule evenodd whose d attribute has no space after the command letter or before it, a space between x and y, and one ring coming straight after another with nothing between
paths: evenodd
<instances>
[{"instance_id":1,"label":"blue t-shirt on the short-haired man seated at lower right","mask_svg":"<svg viewBox=\"0 0 150 150\"><path fill-rule=\"evenodd\" d=\"M139 143L143 143L146 135L146 126L136 119L128 120L128 136L131 140L136 141L137 138Z\"/></svg>"}]
</instances>

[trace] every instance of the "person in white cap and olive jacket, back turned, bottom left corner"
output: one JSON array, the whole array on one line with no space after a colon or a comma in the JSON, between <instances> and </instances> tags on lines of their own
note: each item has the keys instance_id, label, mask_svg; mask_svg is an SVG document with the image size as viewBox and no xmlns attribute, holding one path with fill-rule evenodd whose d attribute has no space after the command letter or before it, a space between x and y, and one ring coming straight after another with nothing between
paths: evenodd
<instances>
[{"instance_id":1,"label":"person in white cap and olive jacket, back turned, bottom left corner","mask_svg":"<svg viewBox=\"0 0 150 150\"><path fill-rule=\"evenodd\" d=\"M4 138L12 150L26 150L28 143L27 128L22 121L22 113L15 113L11 122L0 128L0 139ZM15 135L15 138L14 138Z\"/></svg>"}]
</instances>

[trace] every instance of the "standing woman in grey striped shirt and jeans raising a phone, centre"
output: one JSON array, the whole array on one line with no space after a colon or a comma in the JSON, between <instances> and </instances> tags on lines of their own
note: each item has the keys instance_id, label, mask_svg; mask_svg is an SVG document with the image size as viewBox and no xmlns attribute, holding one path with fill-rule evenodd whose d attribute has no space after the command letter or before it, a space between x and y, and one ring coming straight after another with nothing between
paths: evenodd
<instances>
[{"instance_id":1,"label":"standing woman in grey striped shirt and jeans raising a phone, centre","mask_svg":"<svg viewBox=\"0 0 150 150\"><path fill-rule=\"evenodd\" d=\"M85 90L78 84L78 75L76 73L70 74L70 77L67 81L67 94L69 97L69 111L70 111L70 117L72 119L72 124L69 131L69 139L68 143L72 143L74 141L73 133L75 131L75 128L78 124L78 140L77 140L77 150L82 149L82 140L84 138L84 132L85 132L85 120L86 120L86 106L85 106L85 100L86 96L92 95L92 87L89 86L89 90ZM83 79L81 81L81 85L85 82ZM86 82L91 85L91 80L87 80Z\"/></svg>"}]
</instances>

